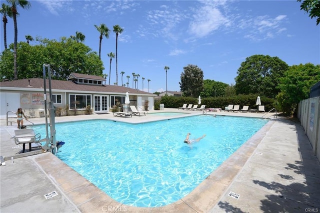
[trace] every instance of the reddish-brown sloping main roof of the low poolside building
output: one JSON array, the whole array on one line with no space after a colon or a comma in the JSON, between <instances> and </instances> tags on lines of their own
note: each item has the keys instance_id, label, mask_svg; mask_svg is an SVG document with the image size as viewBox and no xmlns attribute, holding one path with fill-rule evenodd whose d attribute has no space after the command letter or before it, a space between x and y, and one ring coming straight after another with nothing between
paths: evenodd
<instances>
[{"instance_id":1,"label":"reddish-brown sloping main roof of the low poolside building","mask_svg":"<svg viewBox=\"0 0 320 213\"><path fill-rule=\"evenodd\" d=\"M29 81L30 80L30 85ZM46 88L48 89L49 83L46 79ZM1 87L15 87L17 90L19 88L37 88L43 89L43 79L42 78L29 78L29 79L18 79L18 80L8 80L0 82ZM130 94L139 94L139 95L154 95L153 93L145 92L138 89L127 88L125 86L116 86L116 85L87 85L87 84L77 84L72 81L67 80L51 80L51 89L57 89L61 91L86 91L86 92L105 92L108 94L112 93L125 93L128 91ZM24 89L25 90L25 89Z\"/></svg>"}]
</instances>

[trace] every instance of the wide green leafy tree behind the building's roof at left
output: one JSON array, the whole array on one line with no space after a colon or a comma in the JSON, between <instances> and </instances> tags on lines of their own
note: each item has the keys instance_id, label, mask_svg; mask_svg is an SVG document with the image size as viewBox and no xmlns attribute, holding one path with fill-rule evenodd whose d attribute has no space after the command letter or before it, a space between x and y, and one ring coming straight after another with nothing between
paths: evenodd
<instances>
[{"instance_id":1,"label":"wide green leafy tree behind the building's roof at left","mask_svg":"<svg viewBox=\"0 0 320 213\"><path fill-rule=\"evenodd\" d=\"M42 64L50 64L52 79L65 80L71 72L102 76L97 53L83 43L61 37L60 41L36 38L37 45L17 43L18 79L42 77ZM13 44L0 54L0 79L14 79Z\"/></svg>"}]
</instances>

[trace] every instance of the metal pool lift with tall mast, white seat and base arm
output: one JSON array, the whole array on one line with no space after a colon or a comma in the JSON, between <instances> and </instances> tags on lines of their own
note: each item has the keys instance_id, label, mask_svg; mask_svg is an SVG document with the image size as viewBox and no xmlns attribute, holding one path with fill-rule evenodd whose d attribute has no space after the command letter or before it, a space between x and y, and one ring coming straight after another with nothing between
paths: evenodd
<instances>
[{"instance_id":1,"label":"metal pool lift with tall mast, white seat and base arm","mask_svg":"<svg viewBox=\"0 0 320 213\"><path fill-rule=\"evenodd\" d=\"M24 156L30 156L34 154L40 154L43 152L50 151L54 155L57 152L57 149L64 144L62 141L55 141L55 121L54 121L54 115L55 115L55 109L53 102L51 101L52 99L52 91L51 91L51 71L50 71L50 65L49 64L43 64L43 90L44 90L44 117L45 117L45 130L46 130L46 136L43 139L39 139L37 135L20 135L19 133L23 133L22 131L25 129L17 129L16 131L18 132L17 135L13 136L15 142L22 143L23 144L23 150L22 153L21 151L17 152L16 154L5 156L5 157L0 157L1 159L1 164L3 165L3 160L8 160L8 159L14 159L14 158L20 158ZM46 80L46 69L47 69L47 74L48 74L48 80ZM47 95L46 95L46 81L48 81L48 86L49 86L49 98L47 101ZM49 112L49 126L50 126L50 137L48 134L48 121L47 121L47 104L48 104L48 112ZM19 132L19 130L22 130ZM33 130L33 129L32 129ZM33 131L34 134L34 131ZM44 142L45 144L42 146L38 146L36 150L31 150L31 146L29 146L29 151L24 152L24 146L25 143L30 143L35 142L39 144L40 142Z\"/></svg>"}]
</instances>

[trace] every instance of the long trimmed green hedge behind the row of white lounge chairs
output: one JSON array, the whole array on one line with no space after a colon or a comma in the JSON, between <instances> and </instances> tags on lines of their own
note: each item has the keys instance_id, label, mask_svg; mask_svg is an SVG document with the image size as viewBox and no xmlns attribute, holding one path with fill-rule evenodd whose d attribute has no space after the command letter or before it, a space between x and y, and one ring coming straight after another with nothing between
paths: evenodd
<instances>
[{"instance_id":1,"label":"long trimmed green hedge behind the row of white lounge chairs","mask_svg":"<svg viewBox=\"0 0 320 213\"><path fill-rule=\"evenodd\" d=\"M204 97L201 98L201 104L205 105L206 108L221 108L224 109L228 104L240 105L240 109L243 105L248 105L249 109L257 109L255 105L256 97L258 95L248 94L248 95L235 95L230 97ZM272 108L276 108L276 100L273 98L268 98L260 96L261 104L264 105L265 111L269 111ZM166 108L178 108L183 105L183 103L198 104L198 99L194 97L176 97L176 96L162 96L160 100L155 100L154 109L159 109L159 104L163 103ZM200 105L198 107L200 107Z\"/></svg>"}]
</instances>

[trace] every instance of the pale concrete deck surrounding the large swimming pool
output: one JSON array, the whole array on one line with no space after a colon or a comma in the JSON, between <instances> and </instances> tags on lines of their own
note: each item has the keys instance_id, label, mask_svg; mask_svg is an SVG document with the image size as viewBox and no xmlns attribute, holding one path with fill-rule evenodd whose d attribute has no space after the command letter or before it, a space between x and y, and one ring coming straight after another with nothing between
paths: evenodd
<instances>
[{"instance_id":1,"label":"pale concrete deck surrounding the large swimming pool","mask_svg":"<svg viewBox=\"0 0 320 213\"><path fill-rule=\"evenodd\" d=\"M165 111L189 112L189 115L202 113L168 108ZM115 117L112 113L62 116L56 117L55 121L101 118L137 123L176 117L158 116L152 112L163 111L132 117ZM248 112L207 114L263 115ZM43 117L30 120L35 124L44 123ZM1 156L22 149L10 138L14 129L15 125L6 126L6 120L0 120ZM13 161L7 160L0 166L1 212L320 211L318 159L311 153L310 142L300 123L279 117L270 120L188 195L163 207L142 208L118 203L49 152ZM57 195L46 199L44 195L52 191Z\"/></svg>"}]
</instances>

